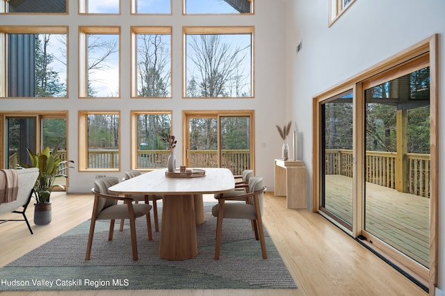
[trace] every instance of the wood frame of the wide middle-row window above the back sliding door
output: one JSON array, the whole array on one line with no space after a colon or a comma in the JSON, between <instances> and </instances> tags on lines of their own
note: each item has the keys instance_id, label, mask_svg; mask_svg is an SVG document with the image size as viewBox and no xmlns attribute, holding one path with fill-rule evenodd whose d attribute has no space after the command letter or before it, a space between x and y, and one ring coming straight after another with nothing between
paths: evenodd
<instances>
[{"instance_id":1,"label":"wood frame of the wide middle-row window above the back sliding door","mask_svg":"<svg viewBox=\"0 0 445 296\"><path fill-rule=\"evenodd\" d=\"M182 98L183 99L252 99L254 85L254 26L183 26L182 27ZM187 97L187 35L241 35L250 34L250 96L246 97Z\"/></svg>"}]
</instances>

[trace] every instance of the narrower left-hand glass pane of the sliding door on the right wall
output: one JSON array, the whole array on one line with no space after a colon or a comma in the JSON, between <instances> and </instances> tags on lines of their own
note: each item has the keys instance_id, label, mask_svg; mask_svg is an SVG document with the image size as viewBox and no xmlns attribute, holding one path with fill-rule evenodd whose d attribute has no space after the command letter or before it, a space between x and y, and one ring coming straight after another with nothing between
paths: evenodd
<instances>
[{"instance_id":1,"label":"narrower left-hand glass pane of the sliding door on the right wall","mask_svg":"<svg viewBox=\"0 0 445 296\"><path fill-rule=\"evenodd\" d=\"M321 105L320 210L347 229L353 225L353 91Z\"/></svg>"}]
</instances>

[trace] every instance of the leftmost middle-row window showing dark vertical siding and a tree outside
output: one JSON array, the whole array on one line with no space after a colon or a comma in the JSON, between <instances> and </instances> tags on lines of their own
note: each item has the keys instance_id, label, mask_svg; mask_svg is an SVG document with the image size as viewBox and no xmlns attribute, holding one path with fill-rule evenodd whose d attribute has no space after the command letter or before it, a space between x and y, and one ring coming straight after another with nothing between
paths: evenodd
<instances>
[{"instance_id":1,"label":"leftmost middle-row window showing dark vertical siding and a tree outside","mask_svg":"<svg viewBox=\"0 0 445 296\"><path fill-rule=\"evenodd\" d=\"M0 97L67 97L67 31L0 26Z\"/></svg>"}]
</instances>

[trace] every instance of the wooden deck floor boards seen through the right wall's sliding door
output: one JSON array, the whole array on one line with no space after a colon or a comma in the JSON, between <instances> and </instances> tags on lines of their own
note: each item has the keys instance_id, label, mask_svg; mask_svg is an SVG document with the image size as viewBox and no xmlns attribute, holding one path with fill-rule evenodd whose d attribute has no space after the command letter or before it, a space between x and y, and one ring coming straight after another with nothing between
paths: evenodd
<instances>
[{"instance_id":1,"label":"wooden deck floor boards seen through the right wall's sliding door","mask_svg":"<svg viewBox=\"0 0 445 296\"><path fill-rule=\"evenodd\" d=\"M352 220L352 178L326 175L325 208ZM430 199L366 183L364 230L422 265L429 266Z\"/></svg>"}]
</instances>

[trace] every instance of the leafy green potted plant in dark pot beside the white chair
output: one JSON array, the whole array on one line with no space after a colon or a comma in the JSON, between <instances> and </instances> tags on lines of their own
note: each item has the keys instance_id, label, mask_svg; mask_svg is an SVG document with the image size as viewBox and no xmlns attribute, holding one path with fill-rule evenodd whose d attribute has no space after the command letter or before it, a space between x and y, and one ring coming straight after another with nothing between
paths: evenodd
<instances>
[{"instance_id":1,"label":"leafy green potted plant in dark pot beside the white chair","mask_svg":"<svg viewBox=\"0 0 445 296\"><path fill-rule=\"evenodd\" d=\"M35 154L30 149L28 150L31 165L21 164L21 167L38 167L39 176L35 181L35 201L34 204L34 224L44 225L51 222L51 190L54 186L64 188L62 185L54 184L58 177L67 177L65 171L67 170L67 163L74 163L74 161L65 161L58 155L57 147L50 151L49 147L45 147L40 154Z\"/></svg>"}]
</instances>

